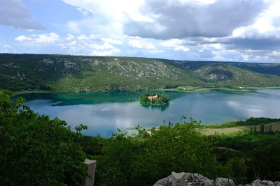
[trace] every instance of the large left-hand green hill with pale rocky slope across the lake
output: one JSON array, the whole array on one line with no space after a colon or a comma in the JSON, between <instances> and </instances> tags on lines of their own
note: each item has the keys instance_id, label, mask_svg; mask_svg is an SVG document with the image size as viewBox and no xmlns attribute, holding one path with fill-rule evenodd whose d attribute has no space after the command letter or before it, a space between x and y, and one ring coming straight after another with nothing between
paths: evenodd
<instances>
[{"instance_id":1,"label":"large left-hand green hill with pale rocky slope across the lake","mask_svg":"<svg viewBox=\"0 0 280 186\"><path fill-rule=\"evenodd\" d=\"M0 87L15 91L132 91L202 83L158 59L0 54Z\"/></svg>"}]
</instances>

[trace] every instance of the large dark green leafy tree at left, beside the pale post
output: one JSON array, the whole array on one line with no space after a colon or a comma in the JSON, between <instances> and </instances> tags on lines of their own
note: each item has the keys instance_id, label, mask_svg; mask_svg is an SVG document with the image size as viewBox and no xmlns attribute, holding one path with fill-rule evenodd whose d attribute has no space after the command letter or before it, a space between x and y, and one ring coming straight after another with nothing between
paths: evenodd
<instances>
[{"instance_id":1,"label":"large dark green leafy tree at left, beside the pale post","mask_svg":"<svg viewBox=\"0 0 280 186\"><path fill-rule=\"evenodd\" d=\"M22 98L13 102L11 95L0 91L0 185L80 185L87 167L74 142L79 133L35 114Z\"/></svg>"}]
</instances>

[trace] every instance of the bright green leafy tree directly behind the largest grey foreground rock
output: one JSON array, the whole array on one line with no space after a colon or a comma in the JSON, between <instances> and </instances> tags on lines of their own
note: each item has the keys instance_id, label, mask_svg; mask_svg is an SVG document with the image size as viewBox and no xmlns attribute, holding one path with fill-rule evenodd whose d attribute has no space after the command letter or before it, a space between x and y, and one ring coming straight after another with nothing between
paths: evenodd
<instances>
[{"instance_id":1,"label":"bright green leafy tree directly behind the largest grey foreground rock","mask_svg":"<svg viewBox=\"0 0 280 186\"><path fill-rule=\"evenodd\" d=\"M191 120L151 130L146 138L146 153L141 157L141 169L148 172L151 183L165 178L171 171L201 173L209 178L221 173L221 165L211 154L211 144L194 130L196 125Z\"/></svg>"}]
</instances>

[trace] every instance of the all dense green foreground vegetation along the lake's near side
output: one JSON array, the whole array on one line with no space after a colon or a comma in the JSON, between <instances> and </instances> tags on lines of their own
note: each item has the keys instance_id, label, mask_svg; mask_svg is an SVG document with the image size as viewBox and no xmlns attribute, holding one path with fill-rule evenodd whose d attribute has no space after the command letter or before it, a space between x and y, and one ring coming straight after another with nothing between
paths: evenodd
<instances>
[{"instance_id":1,"label":"all dense green foreground vegetation along the lake's near side","mask_svg":"<svg viewBox=\"0 0 280 186\"><path fill-rule=\"evenodd\" d=\"M145 130L136 137L87 137L64 121L34 114L22 98L0 91L0 185L80 185L86 156L97 160L96 185L152 185L172 171L280 180L280 132L204 135L193 119ZM276 121L249 118L240 125ZM278 120L277 120L278 121ZM82 151L83 150L83 151Z\"/></svg>"}]
</instances>

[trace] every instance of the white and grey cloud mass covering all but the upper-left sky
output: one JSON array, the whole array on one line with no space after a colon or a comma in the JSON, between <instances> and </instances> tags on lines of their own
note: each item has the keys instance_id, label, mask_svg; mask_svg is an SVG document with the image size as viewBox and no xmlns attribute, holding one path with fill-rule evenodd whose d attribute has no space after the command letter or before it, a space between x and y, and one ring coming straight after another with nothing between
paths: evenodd
<instances>
[{"instance_id":1,"label":"white and grey cloud mass covering all but the upper-left sky","mask_svg":"<svg viewBox=\"0 0 280 186\"><path fill-rule=\"evenodd\" d=\"M76 6L80 20L65 20L64 34L57 31L61 36L55 31L25 32L15 38L17 44L102 56L221 61L279 57L279 0L62 1Z\"/></svg>"}]
</instances>

